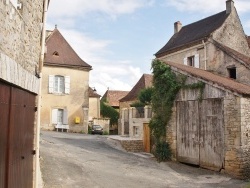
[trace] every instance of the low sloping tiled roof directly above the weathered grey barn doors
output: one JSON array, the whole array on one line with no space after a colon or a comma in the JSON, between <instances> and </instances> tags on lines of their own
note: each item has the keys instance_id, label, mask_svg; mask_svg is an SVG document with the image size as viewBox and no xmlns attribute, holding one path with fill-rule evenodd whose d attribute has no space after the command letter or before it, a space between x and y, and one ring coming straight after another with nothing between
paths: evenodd
<instances>
[{"instance_id":1,"label":"low sloping tiled roof directly above the weathered grey barn doors","mask_svg":"<svg viewBox=\"0 0 250 188\"><path fill-rule=\"evenodd\" d=\"M198 77L204 81L212 82L213 84L217 84L222 88L230 90L232 92L236 92L241 95L246 95L250 97L250 86L236 82L233 79L222 77L211 72L194 68L187 65L182 65L173 62L165 62L166 64L170 65L173 68L176 68L177 71L184 71L191 76Z\"/></svg>"}]
</instances>

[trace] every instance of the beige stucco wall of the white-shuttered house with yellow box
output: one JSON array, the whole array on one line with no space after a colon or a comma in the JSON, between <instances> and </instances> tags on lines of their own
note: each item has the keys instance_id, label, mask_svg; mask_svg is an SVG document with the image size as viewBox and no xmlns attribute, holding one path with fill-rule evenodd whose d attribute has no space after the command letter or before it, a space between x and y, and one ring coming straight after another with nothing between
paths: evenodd
<instances>
[{"instance_id":1,"label":"beige stucco wall of the white-shuttered house with yellow box","mask_svg":"<svg viewBox=\"0 0 250 188\"><path fill-rule=\"evenodd\" d=\"M49 94L49 75L70 76L70 94ZM66 108L68 110L69 131L87 133L88 113L84 115L83 107L88 110L88 87L88 71L45 66L42 82L41 128L53 130L54 125L51 123L52 109ZM80 117L79 124L75 124L75 117Z\"/></svg>"}]
</instances>

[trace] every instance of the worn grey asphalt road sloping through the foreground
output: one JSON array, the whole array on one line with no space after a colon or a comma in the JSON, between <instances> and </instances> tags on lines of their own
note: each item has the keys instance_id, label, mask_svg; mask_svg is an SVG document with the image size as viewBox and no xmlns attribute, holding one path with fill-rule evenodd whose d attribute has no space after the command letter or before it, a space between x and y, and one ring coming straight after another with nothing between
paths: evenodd
<instances>
[{"instance_id":1,"label":"worn grey asphalt road sloping through the foreground","mask_svg":"<svg viewBox=\"0 0 250 188\"><path fill-rule=\"evenodd\" d=\"M128 153L109 136L43 131L40 159L45 188L250 188L213 171Z\"/></svg>"}]
</instances>

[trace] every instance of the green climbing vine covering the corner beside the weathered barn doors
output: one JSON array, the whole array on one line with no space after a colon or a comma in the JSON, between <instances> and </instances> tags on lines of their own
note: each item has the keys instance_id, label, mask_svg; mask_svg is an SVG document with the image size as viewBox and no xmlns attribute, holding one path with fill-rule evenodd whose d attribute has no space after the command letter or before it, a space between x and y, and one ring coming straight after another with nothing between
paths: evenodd
<instances>
[{"instance_id":1,"label":"green climbing vine covering the corner beside the weathered barn doors","mask_svg":"<svg viewBox=\"0 0 250 188\"><path fill-rule=\"evenodd\" d=\"M176 75L169 65L159 60L153 60L153 92L152 92L152 117L149 126L152 130L155 145L153 153L158 161L169 160L171 149L166 142L167 126L171 116L175 98L181 88L200 89L199 100L201 100L205 84L198 82L185 85L187 76Z\"/></svg>"}]
</instances>

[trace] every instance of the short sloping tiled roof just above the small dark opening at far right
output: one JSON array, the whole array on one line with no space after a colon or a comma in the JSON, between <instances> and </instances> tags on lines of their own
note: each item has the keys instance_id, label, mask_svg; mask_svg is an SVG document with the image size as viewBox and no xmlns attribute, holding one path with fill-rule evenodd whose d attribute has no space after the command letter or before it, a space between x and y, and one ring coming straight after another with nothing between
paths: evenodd
<instances>
[{"instance_id":1,"label":"short sloping tiled roof just above the small dark opening at far right","mask_svg":"<svg viewBox=\"0 0 250 188\"><path fill-rule=\"evenodd\" d=\"M237 59L240 63L244 64L247 68L250 68L250 57L246 56L232 48L229 48L219 42L213 41L213 44L220 48L222 51L226 52L228 55Z\"/></svg>"}]
</instances>

